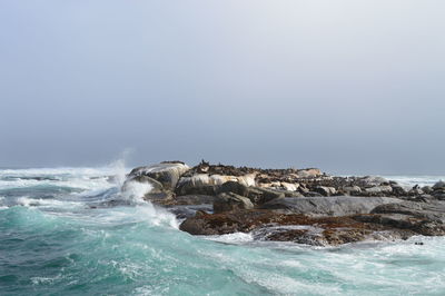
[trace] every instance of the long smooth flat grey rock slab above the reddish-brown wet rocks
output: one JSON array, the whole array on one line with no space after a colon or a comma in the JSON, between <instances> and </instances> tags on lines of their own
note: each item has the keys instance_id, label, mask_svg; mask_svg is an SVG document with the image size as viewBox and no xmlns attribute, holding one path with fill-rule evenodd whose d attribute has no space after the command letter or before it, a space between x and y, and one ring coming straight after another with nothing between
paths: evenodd
<instances>
[{"instance_id":1,"label":"long smooth flat grey rock slab above the reddish-brown wet rocks","mask_svg":"<svg viewBox=\"0 0 445 296\"><path fill-rule=\"evenodd\" d=\"M260 208L271 209L284 214L348 216L355 214L368 214L379 205L400 201L400 199L389 197L286 197L266 203Z\"/></svg>"}]
</instances>

